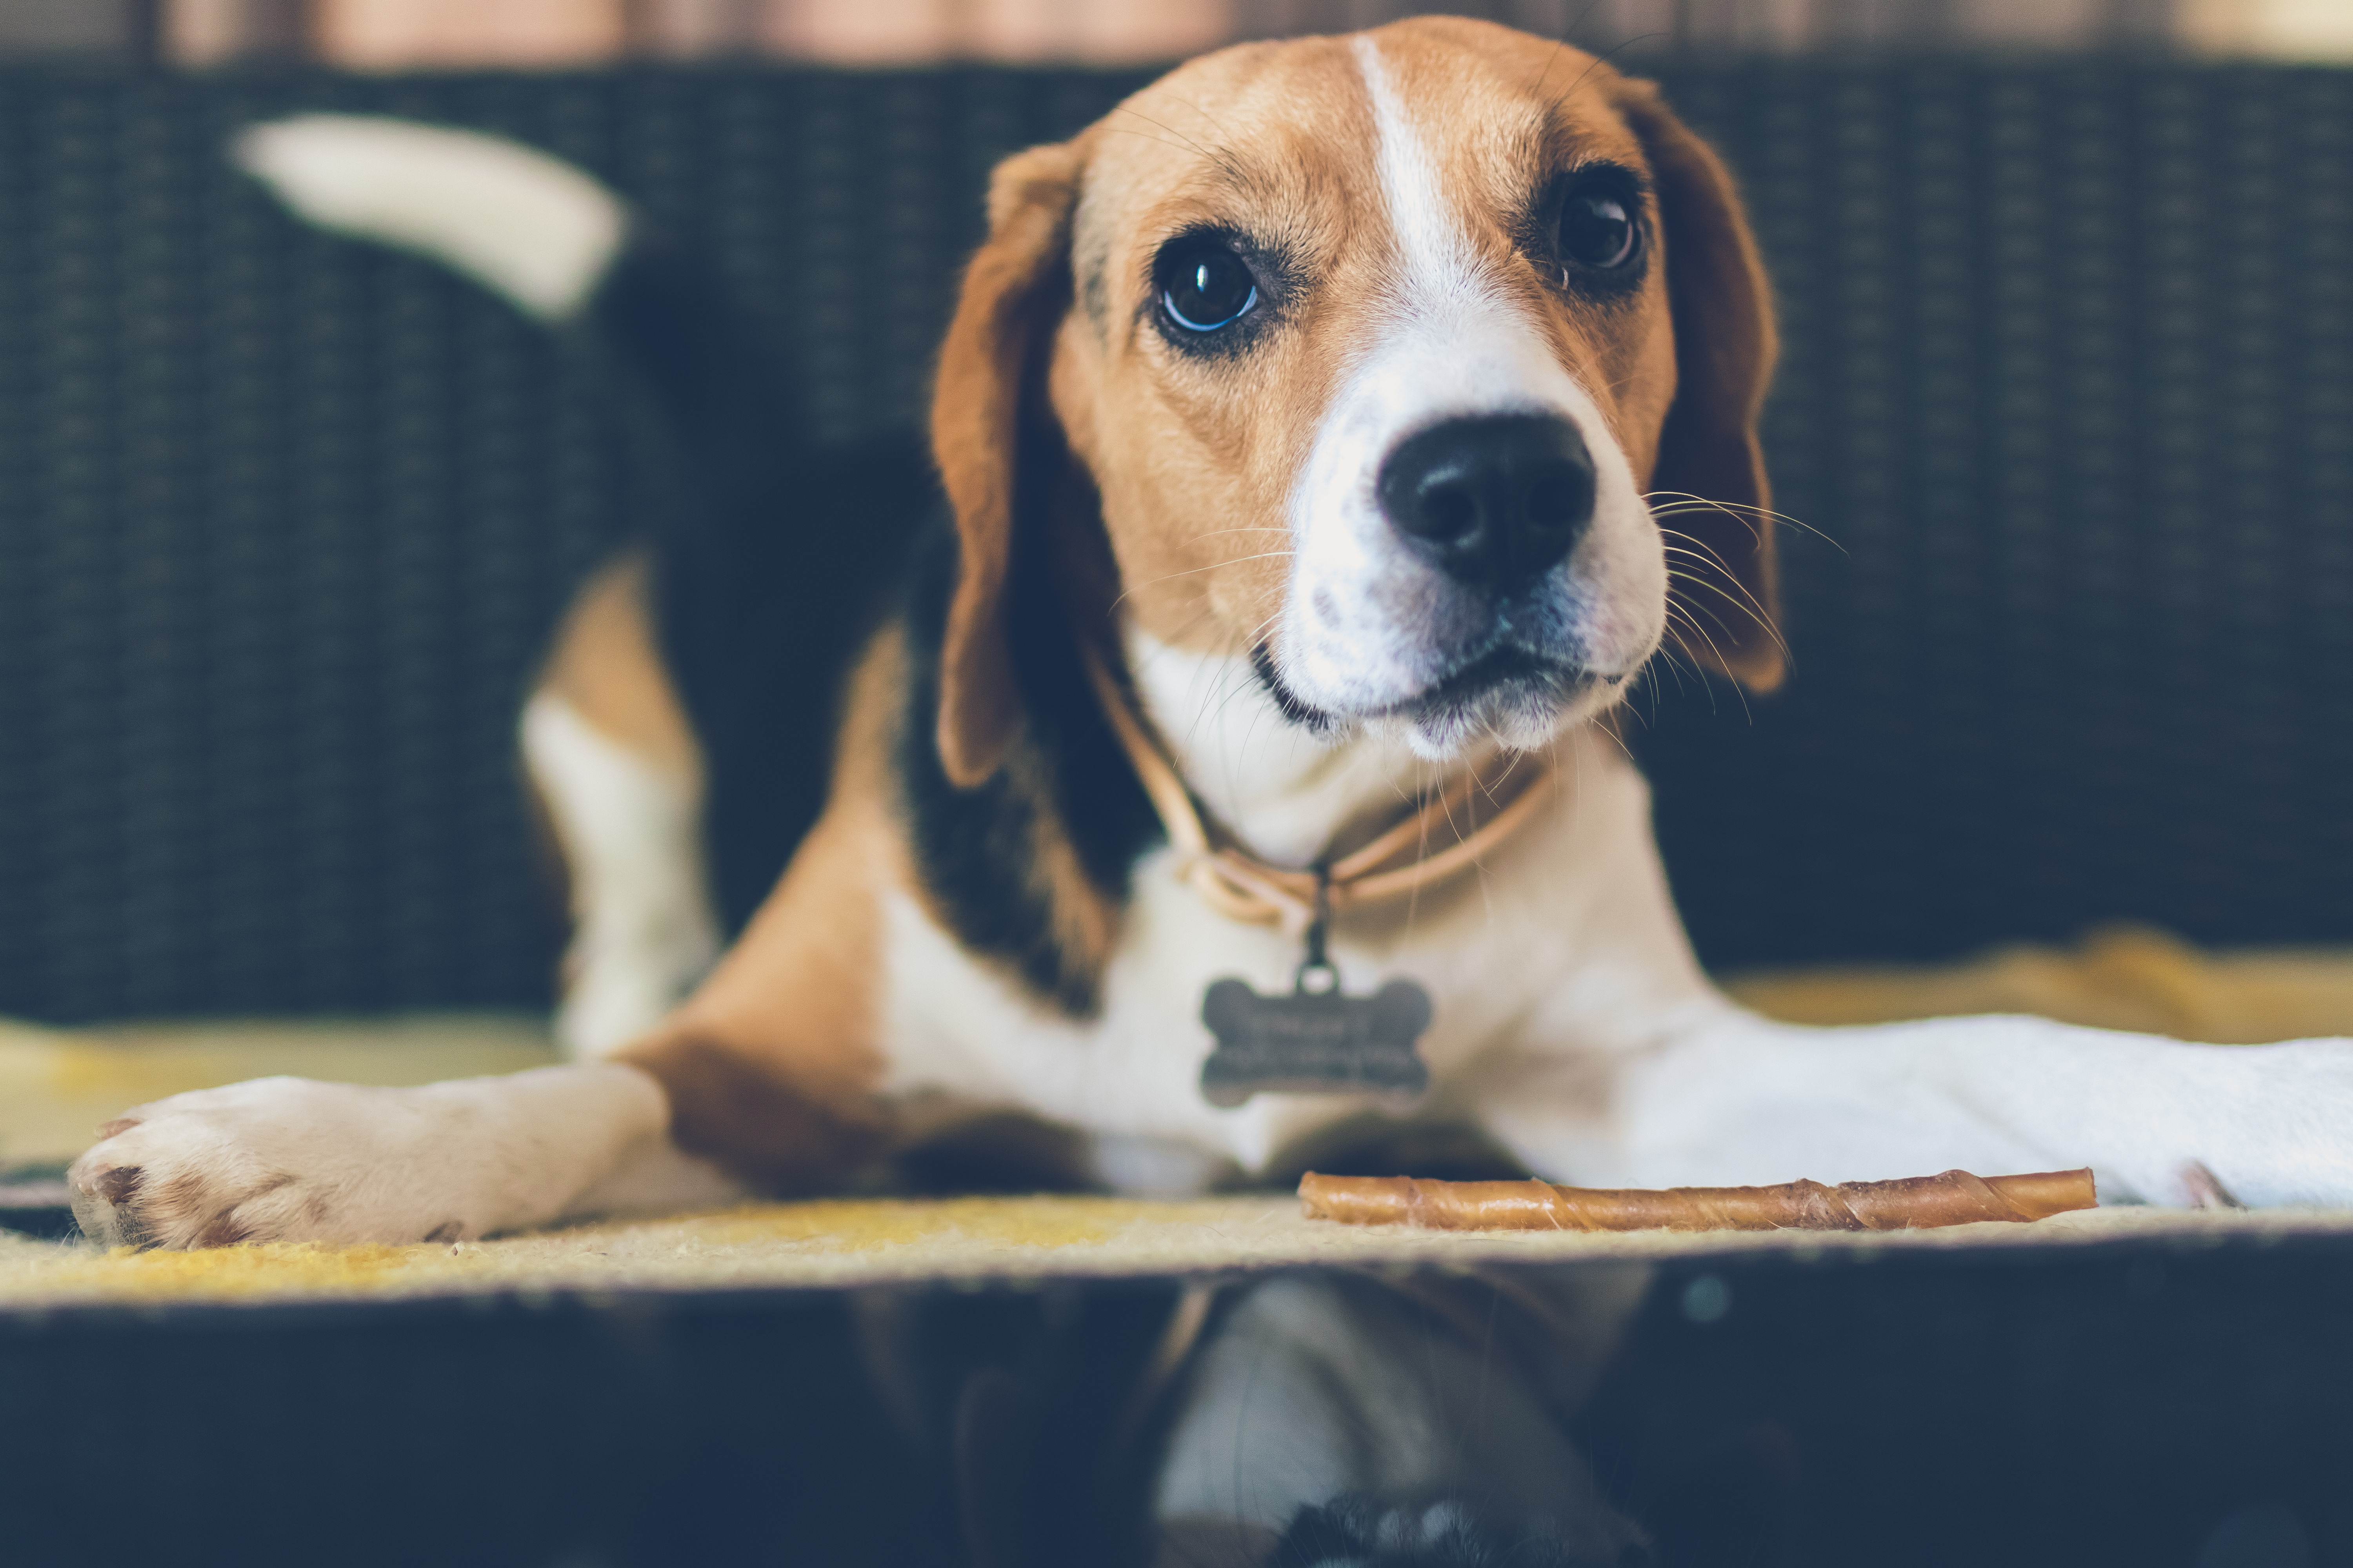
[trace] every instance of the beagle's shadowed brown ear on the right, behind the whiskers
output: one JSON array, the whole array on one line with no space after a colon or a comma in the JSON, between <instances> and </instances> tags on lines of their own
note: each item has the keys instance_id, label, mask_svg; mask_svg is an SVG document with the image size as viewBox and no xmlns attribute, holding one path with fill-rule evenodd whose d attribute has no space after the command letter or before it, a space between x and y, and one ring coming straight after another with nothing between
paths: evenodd
<instances>
[{"instance_id":1,"label":"beagle's shadowed brown ear on the right, behind the whiskers","mask_svg":"<svg viewBox=\"0 0 2353 1568\"><path fill-rule=\"evenodd\" d=\"M1781 614L1772 491L1758 447L1777 353L1772 287L1722 160L1668 113L1657 85L1619 82L1614 96L1649 155L1675 315L1675 404L1659 433L1649 489L1659 505L1699 496L1725 508L1692 505L1671 517L1701 557L1678 557L1678 571L1701 581L1678 583L1675 592L1706 628L1692 654L1769 691L1784 675L1772 625Z\"/></svg>"}]
</instances>

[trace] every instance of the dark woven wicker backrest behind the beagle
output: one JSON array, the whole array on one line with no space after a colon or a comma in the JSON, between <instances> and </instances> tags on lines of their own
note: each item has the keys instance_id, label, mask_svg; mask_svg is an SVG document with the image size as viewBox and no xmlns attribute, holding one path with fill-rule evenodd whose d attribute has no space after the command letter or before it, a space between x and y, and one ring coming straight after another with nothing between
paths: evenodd
<instances>
[{"instance_id":1,"label":"dark woven wicker backrest behind the beagle","mask_svg":"<svg viewBox=\"0 0 2353 1568\"><path fill-rule=\"evenodd\" d=\"M0 1011L532 1004L511 762L678 503L593 360L219 160L501 129L715 256L819 418L920 404L986 167L1134 78L0 73ZM1725 63L1788 341L1791 689L1640 745L1711 961L2139 917L2353 940L2353 75ZM1645 703L1645 710L1649 705Z\"/></svg>"}]
</instances>

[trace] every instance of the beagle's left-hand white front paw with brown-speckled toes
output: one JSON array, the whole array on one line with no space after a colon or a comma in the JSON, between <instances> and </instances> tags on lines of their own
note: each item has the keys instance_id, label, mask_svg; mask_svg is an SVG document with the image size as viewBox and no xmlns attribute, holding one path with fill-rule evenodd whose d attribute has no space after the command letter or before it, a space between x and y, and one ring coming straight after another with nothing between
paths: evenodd
<instances>
[{"instance_id":1,"label":"beagle's left-hand white front paw with brown-speckled toes","mask_svg":"<svg viewBox=\"0 0 2353 1568\"><path fill-rule=\"evenodd\" d=\"M419 1208L400 1171L400 1095L254 1079L139 1105L66 1171L73 1215L127 1246L456 1239L464 1222Z\"/></svg>"}]
</instances>

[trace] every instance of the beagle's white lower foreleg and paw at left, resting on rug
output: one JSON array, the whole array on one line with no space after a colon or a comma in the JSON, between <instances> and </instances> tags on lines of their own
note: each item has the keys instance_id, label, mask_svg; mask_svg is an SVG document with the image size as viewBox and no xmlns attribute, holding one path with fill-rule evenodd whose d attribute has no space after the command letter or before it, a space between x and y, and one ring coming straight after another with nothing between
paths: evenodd
<instances>
[{"instance_id":1,"label":"beagle's white lower foreleg and paw at left, resting on rug","mask_svg":"<svg viewBox=\"0 0 2353 1568\"><path fill-rule=\"evenodd\" d=\"M671 1150L668 1119L619 1063L424 1088L254 1079L132 1107L66 1180L108 1244L456 1241L729 1197Z\"/></svg>"}]
</instances>

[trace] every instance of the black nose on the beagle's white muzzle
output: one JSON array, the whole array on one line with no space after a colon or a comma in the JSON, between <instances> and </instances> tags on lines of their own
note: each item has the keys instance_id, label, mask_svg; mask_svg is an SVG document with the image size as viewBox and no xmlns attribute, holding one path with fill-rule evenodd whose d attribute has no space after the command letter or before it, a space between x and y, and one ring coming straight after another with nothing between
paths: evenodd
<instances>
[{"instance_id":1,"label":"black nose on the beagle's white muzzle","mask_svg":"<svg viewBox=\"0 0 2353 1568\"><path fill-rule=\"evenodd\" d=\"M1558 414L1449 418L1381 463L1381 510L1447 576L1508 592L1558 567L1593 522L1593 454Z\"/></svg>"}]
</instances>

